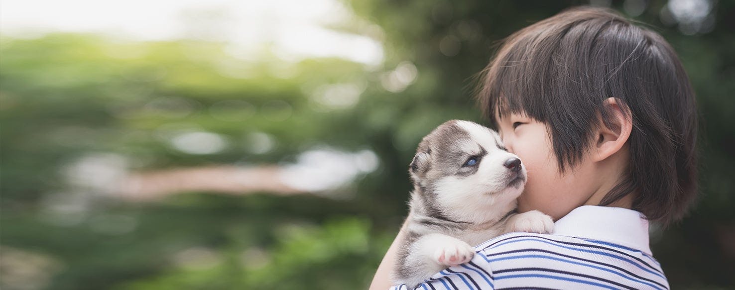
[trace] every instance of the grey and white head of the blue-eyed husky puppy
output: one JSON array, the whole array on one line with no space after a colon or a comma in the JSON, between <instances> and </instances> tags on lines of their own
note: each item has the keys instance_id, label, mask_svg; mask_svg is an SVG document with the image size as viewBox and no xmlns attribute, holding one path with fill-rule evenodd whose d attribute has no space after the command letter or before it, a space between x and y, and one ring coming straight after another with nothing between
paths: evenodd
<instances>
[{"instance_id":1,"label":"grey and white head of the blue-eyed husky puppy","mask_svg":"<svg viewBox=\"0 0 735 290\"><path fill-rule=\"evenodd\" d=\"M409 174L427 210L473 223L514 209L526 185L526 168L498 133L464 120L447 121L424 137Z\"/></svg>"}]
</instances>

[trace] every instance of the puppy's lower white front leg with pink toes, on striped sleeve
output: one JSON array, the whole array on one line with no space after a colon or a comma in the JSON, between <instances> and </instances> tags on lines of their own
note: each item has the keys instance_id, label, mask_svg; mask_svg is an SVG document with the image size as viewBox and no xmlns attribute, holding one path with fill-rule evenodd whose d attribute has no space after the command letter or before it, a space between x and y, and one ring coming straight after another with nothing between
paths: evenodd
<instances>
[{"instance_id":1,"label":"puppy's lower white front leg with pink toes, on striped sleeve","mask_svg":"<svg viewBox=\"0 0 735 290\"><path fill-rule=\"evenodd\" d=\"M409 289L442 269L472 260L476 253L470 244L441 233L420 236L409 247L411 250L401 265L404 277L399 279Z\"/></svg>"}]
</instances>

